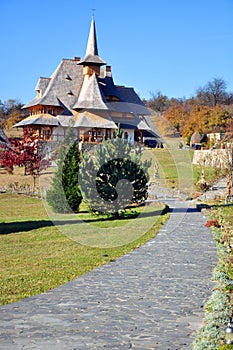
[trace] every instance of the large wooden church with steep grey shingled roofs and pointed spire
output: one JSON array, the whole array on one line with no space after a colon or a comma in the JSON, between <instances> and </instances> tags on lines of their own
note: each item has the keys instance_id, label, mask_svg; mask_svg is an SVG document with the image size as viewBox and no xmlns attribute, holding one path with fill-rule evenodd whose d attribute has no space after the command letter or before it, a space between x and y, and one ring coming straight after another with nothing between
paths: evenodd
<instances>
[{"instance_id":1,"label":"large wooden church with steep grey shingled roofs and pointed spire","mask_svg":"<svg viewBox=\"0 0 233 350\"><path fill-rule=\"evenodd\" d=\"M63 59L50 78L39 79L35 90L36 98L23 106L30 116L15 127L35 130L40 140L61 141L69 126L82 142L114 138L118 126L131 143L159 138L134 89L114 84L111 67L98 53L94 18L84 58Z\"/></svg>"}]
</instances>

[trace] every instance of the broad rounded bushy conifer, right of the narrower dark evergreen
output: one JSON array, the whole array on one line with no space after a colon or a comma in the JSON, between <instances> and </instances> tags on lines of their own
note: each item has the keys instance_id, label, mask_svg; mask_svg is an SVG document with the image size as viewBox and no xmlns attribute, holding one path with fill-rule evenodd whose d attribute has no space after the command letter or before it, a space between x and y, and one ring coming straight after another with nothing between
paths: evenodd
<instances>
[{"instance_id":1,"label":"broad rounded bushy conifer, right of the narrower dark evergreen","mask_svg":"<svg viewBox=\"0 0 233 350\"><path fill-rule=\"evenodd\" d=\"M93 154L86 152L79 183L85 202L96 213L118 216L127 206L147 198L150 161L141 161L141 151L117 137L104 141Z\"/></svg>"}]
</instances>

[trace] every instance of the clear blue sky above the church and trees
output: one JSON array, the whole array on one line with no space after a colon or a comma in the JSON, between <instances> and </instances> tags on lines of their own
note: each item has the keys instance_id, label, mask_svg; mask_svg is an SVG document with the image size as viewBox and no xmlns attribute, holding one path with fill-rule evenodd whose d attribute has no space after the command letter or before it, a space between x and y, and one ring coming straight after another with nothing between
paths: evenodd
<instances>
[{"instance_id":1,"label":"clear blue sky above the church and trees","mask_svg":"<svg viewBox=\"0 0 233 350\"><path fill-rule=\"evenodd\" d=\"M1 0L0 100L30 101L39 77L83 57L93 8L116 84L188 98L217 77L233 91L233 0Z\"/></svg>"}]
</instances>

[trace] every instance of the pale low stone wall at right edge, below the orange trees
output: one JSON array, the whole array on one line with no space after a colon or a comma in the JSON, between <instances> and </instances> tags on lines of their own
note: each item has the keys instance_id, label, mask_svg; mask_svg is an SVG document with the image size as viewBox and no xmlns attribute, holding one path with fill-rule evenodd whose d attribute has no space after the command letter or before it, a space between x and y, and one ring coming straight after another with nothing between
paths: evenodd
<instances>
[{"instance_id":1,"label":"pale low stone wall at right edge, below the orange trees","mask_svg":"<svg viewBox=\"0 0 233 350\"><path fill-rule=\"evenodd\" d=\"M231 164L231 149L194 151L193 164L217 168L228 168Z\"/></svg>"}]
</instances>

